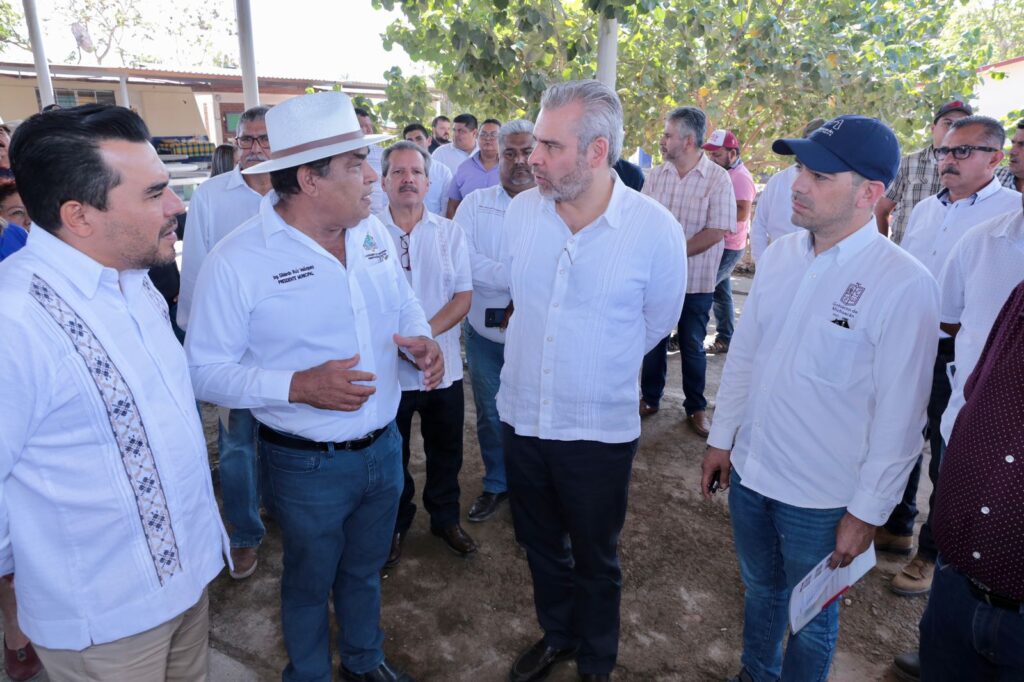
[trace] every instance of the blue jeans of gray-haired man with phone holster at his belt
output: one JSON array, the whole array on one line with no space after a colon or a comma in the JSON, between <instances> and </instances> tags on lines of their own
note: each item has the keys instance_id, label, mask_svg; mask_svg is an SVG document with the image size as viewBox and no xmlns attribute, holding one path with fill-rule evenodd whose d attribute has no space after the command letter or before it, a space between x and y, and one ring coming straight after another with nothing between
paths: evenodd
<instances>
[{"instance_id":1,"label":"blue jeans of gray-haired man with phone holster at his belt","mask_svg":"<svg viewBox=\"0 0 1024 682\"><path fill-rule=\"evenodd\" d=\"M498 419L498 386L505 365L505 344L477 334L469 323L463 326L466 338L466 361L476 406L476 439L483 460L483 492L509 489L505 475L505 450L502 424Z\"/></svg>"}]
</instances>

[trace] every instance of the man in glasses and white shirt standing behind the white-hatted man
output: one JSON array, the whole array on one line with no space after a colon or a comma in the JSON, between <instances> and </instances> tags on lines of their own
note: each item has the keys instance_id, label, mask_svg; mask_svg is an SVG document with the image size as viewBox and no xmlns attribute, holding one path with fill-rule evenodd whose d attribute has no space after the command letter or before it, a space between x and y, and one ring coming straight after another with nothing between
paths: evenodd
<instances>
[{"instance_id":1,"label":"man in glasses and white shirt standing behind the white-hatted man","mask_svg":"<svg viewBox=\"0 0 1024 682\"><path fill-rule=\"evenodd\" d=\"M228 232L259 213L260 201L270 189L267 173L242 174L270 158L266 112L266 106L253 106L242 115L234 137L239 165L201 184L188 203L177 314L178 326L186 332L196 281L207 254ZM256 422L248 410L231 410L226 423L221 419L218 428L220 488L234 564L231 578L243 580L256 570L256 553L265 534L259 516Z\"/></svg>"}]
</instances>

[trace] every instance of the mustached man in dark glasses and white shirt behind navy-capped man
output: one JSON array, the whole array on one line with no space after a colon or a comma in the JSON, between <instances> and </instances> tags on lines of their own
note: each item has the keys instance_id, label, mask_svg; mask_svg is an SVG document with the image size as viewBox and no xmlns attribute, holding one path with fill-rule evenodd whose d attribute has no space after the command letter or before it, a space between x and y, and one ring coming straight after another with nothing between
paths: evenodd
<instances>
[{"instance_id":1,"label":"mustached man in dark glasses and white shirt behind navy-capped man","mask_svg":"<svg viewBox=\"0 0 1024 682\"><path fill-rule=\"evenodd\" d=\"M984 116L969 116L954 122L941 145L933 150L943 188L914 207L901 246L920 260L936 280L953 246L971 227L994 216L1020 211L1020 193L1001 186L993 177L995 168L1002 160L1005 142L1006 133L998 121ZM933 486L938 482L939 464L945 450L939 424L949 401L946 369L952 361L953 339L943 331L939 334L926 429L932 456L928 475ZM896 554L909 554L913 549L921 466L922 457L919 457L903 499L886 524L877 531L877 549ZM930 509L934 501L933 489ZM890 588L896 594L923 596L932 586L936 548L930 520L931 511L929 520L921 528L916 555L893 577Z\"/></svg>"}]
</instances>

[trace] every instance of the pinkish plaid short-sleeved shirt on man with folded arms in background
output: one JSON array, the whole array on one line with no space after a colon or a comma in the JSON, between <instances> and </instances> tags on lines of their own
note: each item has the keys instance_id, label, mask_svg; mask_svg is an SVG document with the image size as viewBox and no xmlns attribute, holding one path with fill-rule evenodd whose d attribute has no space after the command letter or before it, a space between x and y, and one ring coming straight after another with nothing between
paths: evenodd
<instances>
[{"instance_id":1,"label":"pinkish plaid short-sleeved shirt on man with folded arms in background","mask_svg":"<svg viewBox=\"0 0 1024 682\"><path fill-rule=\"evenodd\" d=\"M728 171L707 154L701 154L697 165L682 177L668 162L653 169L644 182L643 194L669 209L683 226L687 241L707 227L736 231L736 196L732 191L732 180ZM718 242L703 253L687 258L687 294L715 291L724 248L725 243Z\"/></svg>"}]
</instances>

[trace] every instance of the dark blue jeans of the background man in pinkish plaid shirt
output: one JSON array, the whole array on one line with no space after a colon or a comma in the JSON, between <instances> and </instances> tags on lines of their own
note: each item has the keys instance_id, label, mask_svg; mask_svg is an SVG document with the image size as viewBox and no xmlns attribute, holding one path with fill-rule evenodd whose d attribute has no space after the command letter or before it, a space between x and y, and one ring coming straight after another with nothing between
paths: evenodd
<instances>
[{"instance_id":1,"label":"dark blue jeans of the background man in pinkish plaid shirt","mask_svg":"<svg viewBox=\"0 0 1024 682\"><path fill-rule=\"evenodd\" d=\"M683 364L683 409L687 415L708 407L705 398L705 373L708 356L703 340L711 318L713 294L686 294L683 312L679 317L679 353ZM644 402L657 408L665 394L665 380L669 370L667 350L669 338L662 339L643 358L640 372L640 396Z\"/></svg>"}]
</instances>

